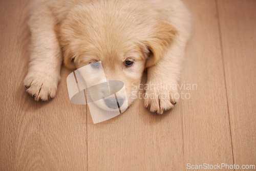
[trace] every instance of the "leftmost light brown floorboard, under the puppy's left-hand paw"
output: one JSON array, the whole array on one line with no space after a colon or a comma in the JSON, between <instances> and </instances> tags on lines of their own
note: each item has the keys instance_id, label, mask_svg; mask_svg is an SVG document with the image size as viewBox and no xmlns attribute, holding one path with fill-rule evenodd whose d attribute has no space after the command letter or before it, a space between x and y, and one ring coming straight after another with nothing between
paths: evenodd
<instances>
[{"instance_id":1,"label":"leftmost light brown floorboard, under the puppy's left-hand paw","mask_svg":"<svg viewBox=\"0 0 256 171\"><path fill-rule=\"evenodd\" d=\"M1 1L0 170L87 170L86 106L69 101L62 69L55 99L25 91L30 40L28 1Z\"/></svg>"}]
</instances>

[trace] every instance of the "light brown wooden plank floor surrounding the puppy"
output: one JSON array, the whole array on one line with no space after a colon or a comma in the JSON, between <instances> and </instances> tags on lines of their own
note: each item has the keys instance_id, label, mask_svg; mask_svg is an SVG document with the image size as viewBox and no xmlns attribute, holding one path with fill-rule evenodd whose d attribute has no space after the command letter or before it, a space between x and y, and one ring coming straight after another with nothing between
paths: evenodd
<instances>
[{"instance_id":1,"label":"light brown wooden plank floor surrounding the puppy","mask_svg":"<svg viewBox=\"0 0 256 171\"><path fill-rule=\"evenodd\" d=\"M62 68L50 102L35 102L25 92L27 2L0 1L0 170L256 165L256 1L186 0L194 33L181 83L197 84L197 90L183 90L190 99L164 115L148 112L137 100L98 124L87 106L69 101L70 70Z\"/></svg>"}]
</instances>

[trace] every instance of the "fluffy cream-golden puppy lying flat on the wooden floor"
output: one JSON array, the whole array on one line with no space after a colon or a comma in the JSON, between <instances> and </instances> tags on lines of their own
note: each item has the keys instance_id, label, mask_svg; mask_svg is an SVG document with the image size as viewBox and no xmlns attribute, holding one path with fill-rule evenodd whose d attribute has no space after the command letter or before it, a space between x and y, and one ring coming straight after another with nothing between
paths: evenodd
<instances>
[{"instance_id":1,"label":"fluffy cream-golden puppy lying flat on the wooden floor","mask_svg":"<svg viewBox=\"0 0 256 171\"><path fill-rule=\"evenodd\" d=\"M191 28L180 0L37 0L31 8L24 84L35 100L56 95L63 59L72 70L101 61L106 79L124 82L129 105L146 70L145 107L174 107L178 92L167 85L178 83Z\"/></svg>"}]
</instances>

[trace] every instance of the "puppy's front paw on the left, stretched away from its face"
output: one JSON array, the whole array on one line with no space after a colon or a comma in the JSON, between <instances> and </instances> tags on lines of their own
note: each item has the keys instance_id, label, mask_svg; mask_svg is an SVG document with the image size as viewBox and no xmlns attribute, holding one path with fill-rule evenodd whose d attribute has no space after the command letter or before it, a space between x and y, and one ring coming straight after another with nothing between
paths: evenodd
<instances>
[{"instance_id":1,"label":"puppy's front paw on the left, stretched away from its face","mask_svg":"<svg viewBox=\"0 0 256 171\"><path fill-rule=\"evenodd\" d=\"M24 79L24 85L36 101L46 101L55 97L59 80L58 74L29 72Z\"/></svg>"}]
</instances>

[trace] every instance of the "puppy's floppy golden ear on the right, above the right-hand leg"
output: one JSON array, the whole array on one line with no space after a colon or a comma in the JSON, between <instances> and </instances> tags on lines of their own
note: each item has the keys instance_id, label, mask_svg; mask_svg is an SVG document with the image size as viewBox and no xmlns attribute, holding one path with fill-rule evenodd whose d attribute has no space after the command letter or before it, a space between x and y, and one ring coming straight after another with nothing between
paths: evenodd
<instances>
[{"instance_id":1,"label":"puppy's floppy golden ear on the right, above the right-hand leg","mask_svg":"<svg viewBox=\"0 0 256 171\"><path fill-rule=\"evenodd\" d=\"M176 34L177 30L172 25L162 21L159 22L151 38L146 40L147 47L153 54L148 56L145 68L156 64L169 48L170 44L172 44Z\"/></svg>"}]
</instances>

